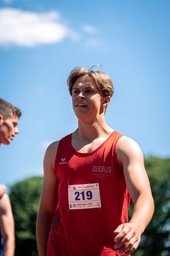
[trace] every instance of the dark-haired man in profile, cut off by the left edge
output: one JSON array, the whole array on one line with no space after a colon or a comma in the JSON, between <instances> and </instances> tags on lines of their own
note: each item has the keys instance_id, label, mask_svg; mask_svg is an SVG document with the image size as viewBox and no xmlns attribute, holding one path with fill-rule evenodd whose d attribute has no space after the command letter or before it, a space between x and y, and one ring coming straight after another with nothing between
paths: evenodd
<instances>
[{"instance_id":1,"label":"dark-haired man in profile, cut off by the left edge","mask_svg":"<svg viewBox=\"0 0 170 256\"><path fill-rule=\"evenodd\" d=\"M18 108L0 99L0 144L10 144L19 133L17 128L21 112ZM5 186L0 185L0 255L14 256L15 235L14 218L11 203L5 193ZM4 195L3 195L4 194Z\"/></svg>"}]
</instances>

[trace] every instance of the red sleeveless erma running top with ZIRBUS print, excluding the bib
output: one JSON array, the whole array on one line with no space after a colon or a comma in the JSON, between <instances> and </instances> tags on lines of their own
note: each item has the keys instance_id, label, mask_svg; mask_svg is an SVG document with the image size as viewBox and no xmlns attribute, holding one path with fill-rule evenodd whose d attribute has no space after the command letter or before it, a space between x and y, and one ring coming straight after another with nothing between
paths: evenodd
<instances>
[{"instance_id":1,"label":"red sleeveless erma running top with ZIRBUS print, excluding the bib","mask_svg":"<svg viewBox=\"0 0 170 256\"><path fill-rule=\"evenodd\" d=\"M54 169L59 180L59 207L48 238L47 256L117 256L113 231L128 222L130 195L116 157L117 131L94 151L80 153L71 134L59 142ZM70 209L68 184L99 183L101 208ZM124 255L121 254L121 255Z\"/></svg>"}]
</instances>

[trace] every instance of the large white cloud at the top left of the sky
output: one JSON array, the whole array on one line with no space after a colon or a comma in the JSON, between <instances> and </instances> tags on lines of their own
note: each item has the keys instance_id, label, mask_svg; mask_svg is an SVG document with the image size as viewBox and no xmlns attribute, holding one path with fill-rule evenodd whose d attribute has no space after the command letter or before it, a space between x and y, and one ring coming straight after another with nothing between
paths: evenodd
<instances>
[{"instance_id":1,"label":"large white cloud at the top left of the sky","mask_svg":"<svg viewBox=\"0 0 170 256\"><path fill-rule=\"evenodd\" d=\"M59 18L58 12L39 14L19 9L0 9L0 45L33 47L57 43L67 36L77 40L76 32L62 24Z\"/></svg>"}]
</instances>

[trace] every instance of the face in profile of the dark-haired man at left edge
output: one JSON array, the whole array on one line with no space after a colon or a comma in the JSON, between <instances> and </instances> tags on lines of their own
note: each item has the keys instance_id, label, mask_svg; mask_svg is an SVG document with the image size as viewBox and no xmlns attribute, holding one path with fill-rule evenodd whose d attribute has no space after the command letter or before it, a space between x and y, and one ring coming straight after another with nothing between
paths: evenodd
<instances>
[{"instance_id":1,"label":"face in profile of the dark-haired man at left edge","mask_svg":"<svg viewBox=\"0 0 170 256\"><path fill-rule=\"evenodd\" d=\"M17 128L18 117L11 116L6 120L0 115L0 143L8 145L13 140L15 134L19 133Z\"/></svg>"}]
</instances>

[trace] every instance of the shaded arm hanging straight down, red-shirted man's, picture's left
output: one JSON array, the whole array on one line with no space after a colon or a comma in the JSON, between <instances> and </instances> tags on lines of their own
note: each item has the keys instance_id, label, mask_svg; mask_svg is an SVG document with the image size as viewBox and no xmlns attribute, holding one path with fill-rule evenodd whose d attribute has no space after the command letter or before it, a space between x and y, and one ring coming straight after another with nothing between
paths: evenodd
<instances>
[{"instance_id":1,"label":"shaded arm hanging straight down, red-shirted man's, picture's left","mask_svg":"<svg viewBox=\"0 0 170 256\"><path fill-rule=\"evenodd\" d=\"M58 204L58 179L54 171L54 162L59 142L47 148L44 156L44 179L42 183L40 206L37 214L36 238L39 256L47 255L47 241L51 221Z\"/></svg>"}]
</instances>

